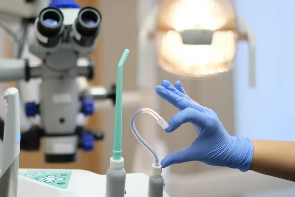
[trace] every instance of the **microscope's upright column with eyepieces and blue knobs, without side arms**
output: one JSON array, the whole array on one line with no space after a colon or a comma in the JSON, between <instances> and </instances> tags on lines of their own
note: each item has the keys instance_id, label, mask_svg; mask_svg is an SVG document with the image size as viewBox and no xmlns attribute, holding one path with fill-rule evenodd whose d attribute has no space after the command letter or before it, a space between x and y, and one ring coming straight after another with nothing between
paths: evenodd
<instances>
[{"instance_id":1,"label":"microscope's upright column with eyepieces and blue knobs, without side arms","mask_svg":"<svg viewBox=\"0 0 295 197\"><path fill-rule=\"evenodd\" d=\"M92 20L94 27L90 26L87 30L83 20ZM93 66L88 65L92 68L84 67L85 72L79 73L81 67L77 66L77 62L79 58L87 58L94 50L100 21L99 11L92 7L48 7L35 20L34 35L29 39L29 51L42 60L39 69L42 82L40 103L28 103L27 108L37 109L31 110L34 112L30 115L36 115L37 112L41 117L47 162L76 160L79 147L77 116L83 112L92 115L94 110L91 100L80 98L76 82L76 77L82 74L91 79Z\"/></svg>"}]
</instances>

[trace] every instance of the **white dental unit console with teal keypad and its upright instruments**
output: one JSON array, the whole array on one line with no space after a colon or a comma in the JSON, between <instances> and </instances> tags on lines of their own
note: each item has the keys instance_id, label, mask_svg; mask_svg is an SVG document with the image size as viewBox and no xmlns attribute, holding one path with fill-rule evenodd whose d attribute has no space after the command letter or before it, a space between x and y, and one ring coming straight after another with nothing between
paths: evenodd
<instances>
[{"instance_id":1,"label":"white dental unit console with teal keypad and its upright instruments","mask_svg":"<svg viewBox=\"0 0 295 197\"><path fill-rule=\"evenodd\" d=\"M0 171L1 197L169 197L163 190L162 168L155 154L152 175L144 173L126 174L121 157L122 123L122 67L128 56L125 50L118 64L116 118L113 157L106 175L76 169L19 169L20 153L20 106L16 88L5 92L7 113L3 138L3 158ZM162 128L168 124L150 109L141 109L155 117ZM134 126L135 113L131 120L132 130L140 137ZM143 139L140 140L146 143ZM148 146L145 144L145 146ZM149 146L148 146L149 147Z\"/></svg>"}]
</instances>

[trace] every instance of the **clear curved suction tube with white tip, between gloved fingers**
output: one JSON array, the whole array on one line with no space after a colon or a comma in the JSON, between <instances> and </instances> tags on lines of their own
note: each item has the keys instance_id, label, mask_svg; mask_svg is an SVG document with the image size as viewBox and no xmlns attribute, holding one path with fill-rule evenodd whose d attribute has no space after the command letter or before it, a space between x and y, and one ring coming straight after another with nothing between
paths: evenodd
<instances>
[{"instance_id":1,"label":"clear curved suction tube with white tip, between gloved fingers","mask_svg":"<svg viewBox=\"0 0 295 197\"><path fill-rule=\"evenodd\" d=\"M155 166L160 166L160 161L159 161L159 157L158 157L157 153L148 145L146 140L139 134L139 132L137 131L137 129L135 127L135 119L140 114L143 114L143 113L147 113L147 114L151 115L163 129L168 128L168 123L157 112L155 112L154 110L152 110L150 108L141 108L141 109L137 110L132 115L131 120L130 120L130 127L131 127L131 130L132 130L133 134L135 135L136 139L144 147L146 147L148 149L148 151L152 154L152 156L154 158L154 165Z\"/></svg>"}]
</instances>

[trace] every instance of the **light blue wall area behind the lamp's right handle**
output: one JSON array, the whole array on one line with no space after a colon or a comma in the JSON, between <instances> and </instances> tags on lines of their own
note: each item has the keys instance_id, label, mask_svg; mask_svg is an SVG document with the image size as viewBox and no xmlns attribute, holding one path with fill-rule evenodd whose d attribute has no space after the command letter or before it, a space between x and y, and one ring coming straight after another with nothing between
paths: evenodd
<instances>
[{"instance_id":1,"label":"light blue wall area behind the lamp's right handle","mask_svg":"<svg viewBox=\"0 0 295 197\"><path fill-rule=\"evenodd\" d=\"M248 48L239 44L234 68L235 132L256 139L295 140L295 1L235 0L253 30L257 87L248 86ZM282 189L249 197L293 197Z\"/></svg>"}]
</instances>

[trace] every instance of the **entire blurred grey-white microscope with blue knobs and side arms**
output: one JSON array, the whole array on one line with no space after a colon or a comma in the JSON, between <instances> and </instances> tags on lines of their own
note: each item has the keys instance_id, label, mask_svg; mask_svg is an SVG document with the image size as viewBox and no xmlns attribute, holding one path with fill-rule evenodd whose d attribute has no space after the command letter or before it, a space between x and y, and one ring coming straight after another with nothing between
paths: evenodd
<instances>
[{"instance_id":1,"label":"entire blurred grey-white microscope with blue knobs and side arms","mask_svg":"<svg viewBox=\"0 0 295 197\"><path fill-rule=\"evenodd\" d=\"M48 163L75 162L78 148L91 151L95 140L104 136L103 132L90 131L77 123L78 115L94 113L94 100L112 99L115 104L116 86L110 90L78 90L77 77L93 78L89 54L94 51L101 21L94 7L81 8L72 0L53 0L34 20L34 34L29 37L29 52L41 61L0 59L0 82L42 79L40 102L21 106L27 117L38 115L41 126L22 132L21 149L39 150L42 137Z\"/></svg>"}]
</instances>

